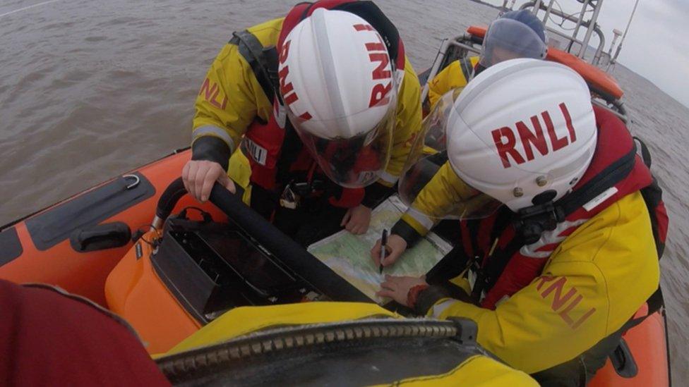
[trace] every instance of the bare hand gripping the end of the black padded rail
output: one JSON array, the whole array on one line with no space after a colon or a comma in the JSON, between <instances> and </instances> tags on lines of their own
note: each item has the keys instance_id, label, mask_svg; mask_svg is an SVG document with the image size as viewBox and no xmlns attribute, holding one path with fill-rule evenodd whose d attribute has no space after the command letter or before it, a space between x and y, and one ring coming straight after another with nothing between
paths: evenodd
<instances>
[{"instance_id":1,"label":"bare hand gripping the end of the black padded rail","mask_svg":"<svg viewBox=\"0 0 689 387\"><path fill-rule=\"evenodd\" d=\"M229 192L236 192L234 182L227 176L224 168L215 161L187 161L182 169L182 180L186 192L199 202L208 200L210 190L216 181Z\"/></svg>"}]
</instances>

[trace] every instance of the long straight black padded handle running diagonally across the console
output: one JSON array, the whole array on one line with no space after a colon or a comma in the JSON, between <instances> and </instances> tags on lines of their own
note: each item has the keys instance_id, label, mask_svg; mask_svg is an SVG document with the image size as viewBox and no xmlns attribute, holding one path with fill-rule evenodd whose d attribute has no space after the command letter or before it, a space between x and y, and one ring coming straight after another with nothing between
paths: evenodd
<instances>
[{"instance_id":1,"label":"long straight black padded handle running diagonally across the console","mask_svg":"<svg viewBox=\"0 0 689 387\"><path fill-rule=\"evenodd\" d=\"M331 300L371 302L364 293L335 274L318 258L313 257L313 254L307 252L292 238L284 235L282 231L263 219L258 212L246 206L239 197L232 195L222 185L218 183L213 185L210 202L227 214L229 221L251 235L259 245L265 247L277 259L280 259L280 262Z\"/></svg>"}]
</instances>

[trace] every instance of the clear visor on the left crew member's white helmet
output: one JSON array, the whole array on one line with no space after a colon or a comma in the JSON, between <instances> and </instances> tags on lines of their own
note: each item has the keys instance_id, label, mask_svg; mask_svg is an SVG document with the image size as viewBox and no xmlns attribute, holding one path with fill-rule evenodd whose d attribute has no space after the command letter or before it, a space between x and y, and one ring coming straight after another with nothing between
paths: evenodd
<instances>
[{"instance_id":1,"label":"clear visor on the left crew member's white helmet","mask_svg":"<svg viewBox=\"0 0 689 387\"><path fill-rule=\"evenodd\" d=\"M394 87L394 85L393 85ZM351 137L327 138L314 134L313 127L332 128L332 133L342 133L343 125L352 125L361 116L371 112L361 112L349 117L330 121L304 120L287 109L289 121L306 146L318 166L330 180L346 188L362 188L375 183L385 171L390 161L395 127L395 92L388 92L381 102L371 109L387 109L383 119L372 127L361 128ZM359 116L359 117L357 117ZM358 129L358 128L357 128Z\"/></svg>"}]
</instances>

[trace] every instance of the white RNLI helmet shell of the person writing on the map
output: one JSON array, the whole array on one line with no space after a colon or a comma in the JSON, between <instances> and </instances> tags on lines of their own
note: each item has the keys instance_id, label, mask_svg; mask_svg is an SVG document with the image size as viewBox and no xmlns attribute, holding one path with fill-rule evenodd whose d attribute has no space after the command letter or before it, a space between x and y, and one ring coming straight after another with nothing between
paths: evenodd
<instances>
[{"instance_id":1,"label":"white RNLI helmet shell of the person writing on the map","mask_svg":"<svg viewBox=\"0 0 689 387\"><path fill-rule=\"evenodd\" d=\"M569 192L594 154L589 89L567 66L513 59L465 87L448 115L448 156L467 185L513 211Z\"/></svg>"}]
</instances>

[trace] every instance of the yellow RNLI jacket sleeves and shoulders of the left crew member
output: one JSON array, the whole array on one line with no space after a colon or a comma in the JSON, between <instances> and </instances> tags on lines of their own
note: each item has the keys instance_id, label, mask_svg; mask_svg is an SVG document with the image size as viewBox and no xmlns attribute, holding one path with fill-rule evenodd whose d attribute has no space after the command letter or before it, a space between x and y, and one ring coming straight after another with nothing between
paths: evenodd
<instances>
[{"instance_id":1,"label":"yellow RNLI jacket sleeves and shoulders of the left crew member","mask_svg":"<svg viewBox=\"0 0 689 387\"><path fill-rule=\"evenodd\" d=\"M277 44L284 18L248 28L263 45ZM405 77L397 95L397 123L393 131L393 152L379 183L391 187L407 161L412 140L421 127L421 87L412 64L405 58ZM266 122L272 114L270 100L263 92L251 66L236 44L226 44L210 66L196 98L193 142L205 136L217 137L230 152L237 149L248 126L256 120ZM246 188L251 176L248 160L235 152L229 162L229 175Z\"/></svg>"}]
</instances>

